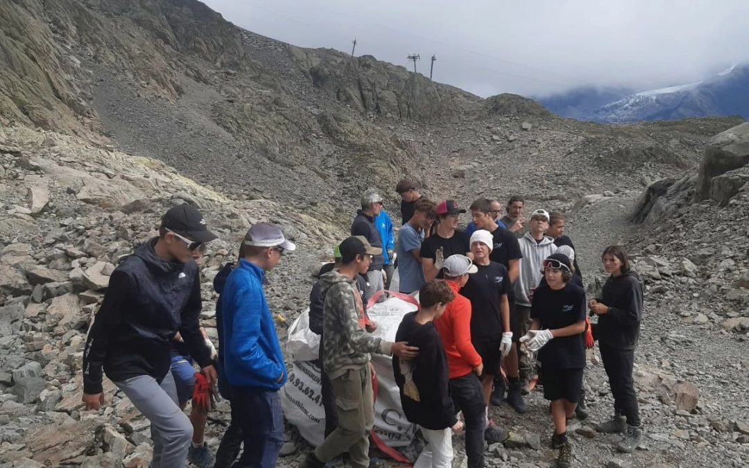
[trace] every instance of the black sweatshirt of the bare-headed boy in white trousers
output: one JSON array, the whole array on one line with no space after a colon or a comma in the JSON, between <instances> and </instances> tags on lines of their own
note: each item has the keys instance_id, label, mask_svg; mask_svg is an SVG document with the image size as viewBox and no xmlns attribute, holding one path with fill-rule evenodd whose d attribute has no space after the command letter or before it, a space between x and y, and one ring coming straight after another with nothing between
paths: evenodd
<instances>
[{"instance_id":1,"label":"black sweatshirt of the bare-headed boy in white trousers","mask_svg":"<svg viewBox=\"0 0 749 468\"><path fill-rule=\"evenodd\" d=\"M422 325L416 322L416 312L409 312L398 326L395 341L407 341L409 346L419 347L419 356L409 362L413 370L413 383L419 391L419 401L404 395L406 377L401 369L401 359L392 356L392 372L401 391L406 418L434 431L452 428L458 419L455 418L455 407L450 397L447 358L434 323Z\"/></svg>"}]
</instances>

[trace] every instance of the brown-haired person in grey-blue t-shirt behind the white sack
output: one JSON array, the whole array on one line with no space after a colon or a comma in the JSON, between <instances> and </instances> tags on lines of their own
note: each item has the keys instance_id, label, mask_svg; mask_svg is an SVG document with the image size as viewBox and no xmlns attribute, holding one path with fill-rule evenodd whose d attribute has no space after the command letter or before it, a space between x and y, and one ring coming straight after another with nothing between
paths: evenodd
<instances>
[{"instance_id":1,"label":"brown-haired person in grey-blue t-shirt behind the white sack","mask_svg":"<svg viewBox=\"0 0 749 468\"><path fill-rule=\"evenodd\" d=\"M398 244L395 251L398 255L398 291L411 294L419 291L424 283L424 270L420 255L424 233L434 222L434 201L422 197L416 201L413 216L398 231Z\"/></svg>"}]
</instances>

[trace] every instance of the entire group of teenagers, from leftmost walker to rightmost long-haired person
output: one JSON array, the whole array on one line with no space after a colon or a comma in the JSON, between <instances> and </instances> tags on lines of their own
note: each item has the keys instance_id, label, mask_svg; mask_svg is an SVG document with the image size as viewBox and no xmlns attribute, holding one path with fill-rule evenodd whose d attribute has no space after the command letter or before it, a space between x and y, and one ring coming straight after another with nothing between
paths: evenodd
<instances>
[{"instance_id":1,"label":"entire group of teenagers, from leftmost walker to rightmost long-haired person","mask_svg":"<svg viewBox=\"0 0 749 468\"><path fill-rule=\"evenodd\" d=\"M369 467L371 353L393 356L404 413L419 426L433 467L451 466L452 434L460 432L468 467L483 467L485 440L502 442L507 434L490 419L489 405L506 400L524 412L535 374L551 401L557 466L571 466L566 420L585 414L578 404L586 309L598 316L593 334L614 398L614 417L598 430L625 433L617 448L634 449L642 434L632 381L642 288L625 249L605 249L610 276L600 297L586 303L563 216L536 210L526 222L521 198L511 199L505 216L497 201L480 198L460 230L466 210L454 201L435 204L408 179L396 192L397 240L383 198L366 192L351 237L336 245L335 262L312 288L309 323L321 335L326 437L302 466L325 467L343 457L352 467ZM216 238L192 205L169 209L157 237L110 276L86 339L82 403L87 410L105 404L106 374L151 423L153 468L185 467L188 460L198 467L275 467L285 441L279 390L288 374L264 283L296 246L271 223L246 232L237 262L213 280L216 353L199 324L198 266ZM403 317L391 342L372 335L377 323L366 304L396 276L399 291L418 293L419 309ZM231 422L213 458L203 437L216 385L231 404Z\"/></svg>"}]
</instances>

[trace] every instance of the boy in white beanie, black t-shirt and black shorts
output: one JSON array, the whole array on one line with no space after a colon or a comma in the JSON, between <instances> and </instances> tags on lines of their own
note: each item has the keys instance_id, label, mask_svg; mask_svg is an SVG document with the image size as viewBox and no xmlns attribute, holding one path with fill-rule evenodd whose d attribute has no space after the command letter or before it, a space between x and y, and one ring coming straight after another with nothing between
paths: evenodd
<instances>
[{"instance_id":1,"label":"boy in white beanie, black t-shirt and black shorts","mask_svg":"<svg viewBox=\"0 0 749 468\"><path fill-rule=\"evenodd\" d=\"M484 404L489 404L494 374L500 368L502 358L512 348L510 331L510 308L508 294L512 290L507 268L489 255L494 239L489 231L479 229L471 234L470 252L475 261L476 273L468 275L468 282L461 294L470 300L470 335L473 347L481 356L484 372L481 376ZM487 419L488 422L488 419ZM492 426L485 432L490 443L501 442L506 433Z\"/></svg>"}]
</instances>

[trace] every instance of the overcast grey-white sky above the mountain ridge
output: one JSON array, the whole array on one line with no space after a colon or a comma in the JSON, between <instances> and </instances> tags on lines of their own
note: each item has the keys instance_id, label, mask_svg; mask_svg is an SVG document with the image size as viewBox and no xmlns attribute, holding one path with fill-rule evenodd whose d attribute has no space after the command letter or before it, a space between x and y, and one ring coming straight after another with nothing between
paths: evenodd
<instances>
[{"instance_id":1,"label":"overcast grey-white sky above the mountain ridge","mask_svg":"<svg viewBox=\"0 0 749 468\"><path fill-rule=\"evenodd\" d=\"M234 24L303 47L413 68L490 96L580 85L636 91L749 61L749 0L203 0ZM457 6L460 5L460 6Z\"/></svg>"}]
</instances>

